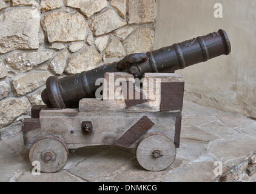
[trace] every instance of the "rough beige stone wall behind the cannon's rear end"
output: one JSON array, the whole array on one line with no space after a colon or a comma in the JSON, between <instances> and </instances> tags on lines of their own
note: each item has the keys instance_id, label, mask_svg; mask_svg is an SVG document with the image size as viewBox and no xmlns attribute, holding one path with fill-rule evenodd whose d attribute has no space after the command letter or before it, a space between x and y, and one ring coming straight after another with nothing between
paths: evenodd
<instances>
[{"instance_id":1,"label":"rough beige stone wall behind the cannon's rear end","mask_svg":"<svg viewBox=\"0 0 256 194\"><path fill-rule=\"evenodd\" d=\"M46 79L152 50L155 0L0 0L0 134L21 133Z\"/></svg>"}]
</instances>

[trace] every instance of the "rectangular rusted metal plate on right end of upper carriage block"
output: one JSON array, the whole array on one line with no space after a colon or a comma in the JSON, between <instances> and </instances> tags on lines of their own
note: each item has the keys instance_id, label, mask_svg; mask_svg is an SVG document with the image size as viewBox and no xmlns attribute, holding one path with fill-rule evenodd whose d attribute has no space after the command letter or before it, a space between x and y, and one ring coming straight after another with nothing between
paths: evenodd
<instances>
[{"instance_id":1,"label":"rectangular rusted metal plate on right end of upper carriage block","mask_svg":"<svg viewBox=\"0 0 256 194\"><path fill-rule=\"evenodd\" d=\"M182 110L184 82L161 82L160 112Z\"/></svg>"}]
</instances>

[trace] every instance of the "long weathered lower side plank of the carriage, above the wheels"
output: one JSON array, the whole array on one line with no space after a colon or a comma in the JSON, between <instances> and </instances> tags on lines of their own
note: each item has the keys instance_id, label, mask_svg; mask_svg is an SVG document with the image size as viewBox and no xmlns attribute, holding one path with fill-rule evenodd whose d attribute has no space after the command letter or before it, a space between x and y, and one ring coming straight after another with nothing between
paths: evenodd
<instances>
[{"instance_id":1,"label":"long weathered lower side plank of the carriage, above the wheels","mask_svg":"<svg viewBox=\"0 0 256 194\"><path fill-rule=\"evenodd\" d=\"M77 145L82 147L112 145L116 139L138 121L138 118L143 116L147 116L155 123L148 132L166 133L174 141L177 112L78 112L77 109L63 109L42 110L40 115L41 128L25 133L24 145L29 147L31 143L44 135L58 136L64 140L69 149L78 148ZM83 136L81 131L83 121L92 121L92 135ZM136 142L130 147L136 147Z\"/></svg>"}]
</instances>

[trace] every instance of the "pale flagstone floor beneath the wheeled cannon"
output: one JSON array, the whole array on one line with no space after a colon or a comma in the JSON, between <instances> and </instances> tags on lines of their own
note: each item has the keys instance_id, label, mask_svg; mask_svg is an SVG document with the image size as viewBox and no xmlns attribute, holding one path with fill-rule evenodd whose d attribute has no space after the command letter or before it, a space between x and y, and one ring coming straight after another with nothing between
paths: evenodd
<instances>
[{"instance_id":1,"label":"pale flagstone floor beneath the wheeled cannon","mask_svg":"<svg viewBox=\"0 0 256 194\"><path fill-rule=\"evenodd\" d=\"M184 101L180 148L161 172L143 170L134 150L69 150L64 169L32 175L22 135L0 141L0 181L256 181L256 121ZM221 173L221 167L223 175Z\"/></svg>"}]
</instances>

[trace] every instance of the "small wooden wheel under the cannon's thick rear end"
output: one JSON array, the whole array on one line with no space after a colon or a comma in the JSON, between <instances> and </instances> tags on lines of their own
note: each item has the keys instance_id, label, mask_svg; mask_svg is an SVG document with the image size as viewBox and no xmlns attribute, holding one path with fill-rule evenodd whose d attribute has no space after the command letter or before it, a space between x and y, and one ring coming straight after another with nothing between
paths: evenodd
<instances>
[{"instance_id":1,"label":"small wooden wheel under the cannon's thick rear end","mask_svg":"<svg viewBox=\"0 0 256 194\"><path fill-rule=\"evenodd\" d=\"M64 167L68 154L64 141L56 136L45 136L32 145L29 159L31 163L39 161L41 172L53 173Z\"/></svg>"}]
</instances>

